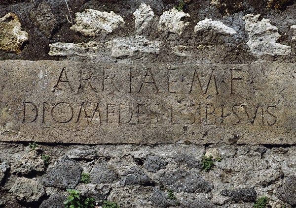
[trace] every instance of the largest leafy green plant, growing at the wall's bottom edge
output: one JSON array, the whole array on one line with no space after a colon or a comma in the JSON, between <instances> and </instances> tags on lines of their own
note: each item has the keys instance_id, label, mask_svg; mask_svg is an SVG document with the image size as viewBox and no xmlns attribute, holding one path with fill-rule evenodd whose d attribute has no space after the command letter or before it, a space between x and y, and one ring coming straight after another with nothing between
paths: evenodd
<instances>
[{"instance_id":1,"label":"largest leafy green plant, growing at the wall's bottom edge","mask_svg":"<svg viewBox=\"0 0 296 208\"><path fill-rule=\"evenodd\" d=\"M93 208L95 207L94 198L82 198L80 197L80 191L75 189L67 189L70 195L67 197L67 201L64 202L65 208Z\"/></svg>"}]
</instances>

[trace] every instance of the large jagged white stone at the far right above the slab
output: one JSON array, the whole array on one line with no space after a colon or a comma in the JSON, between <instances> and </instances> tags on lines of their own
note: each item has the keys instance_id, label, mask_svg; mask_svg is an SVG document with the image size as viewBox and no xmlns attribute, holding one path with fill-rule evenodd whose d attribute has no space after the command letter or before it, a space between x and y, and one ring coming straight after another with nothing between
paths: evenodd
<instances>
[{"instance_id":1,"label":"large jagged white stone at the far right above the slab","mask_svg":"<svg viewBox=\"0 0 296 208\"><path fill-rule=\"evenodd\" d=\"M289 55L291 53L291 47L276 43L281 36L277 27L270 24L268 19L259 20L258 15L247 14L243 16L245 21L245 30L248 32L249 46L251 52L256 56L262 56L264 54L275 55Z\"/></svg>"}]
</instances>

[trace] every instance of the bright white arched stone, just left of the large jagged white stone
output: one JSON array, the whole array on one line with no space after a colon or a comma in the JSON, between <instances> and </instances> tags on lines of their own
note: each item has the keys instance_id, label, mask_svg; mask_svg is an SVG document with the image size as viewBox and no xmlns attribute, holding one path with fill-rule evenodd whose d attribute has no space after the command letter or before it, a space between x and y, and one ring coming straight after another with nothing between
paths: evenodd
<instances>
[{"instance_id":1,"label":"bright white arched stone, just left of the large jagged white stone","mask_svg":"<svg viewBox=\"0 0 296 208\"><path fill-rule=\"evenodd\" d=\"M205 31L205 30L211 30L224 35L233 35L236 33L235 30L224 25L222 22L208 19L208 18L198 22L197 25L194 27L194 32Z\"/></svg>"}]
</instances>

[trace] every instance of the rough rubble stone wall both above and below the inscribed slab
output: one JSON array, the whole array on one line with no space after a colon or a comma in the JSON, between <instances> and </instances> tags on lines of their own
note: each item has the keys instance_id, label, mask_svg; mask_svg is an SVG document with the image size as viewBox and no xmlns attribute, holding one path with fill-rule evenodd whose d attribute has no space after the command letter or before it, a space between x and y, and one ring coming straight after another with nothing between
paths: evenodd
<instances>
[{"instance_id":1,"label":"rough rubble stone wall both above and below the inscribed slab","mask_svg":"<svg viewBox=\"0 0 296 208\"><path fill-rule=\"evenodd\" d=\"M0 59L295 63L294 0L182 2L2 0ZM238 146L234 137L230 146L38 144L29 150L27 143L0 144L2 207L62 208L67 188L98 206L109 200L122 208L252 208L264 196L271 208L296 206L295 146ZM42 154L50 156L48 167ZM213 156L209 172L204 155ZM79 182L82 173L90 174L89 184Z\"/></svg>"}]
</instances>

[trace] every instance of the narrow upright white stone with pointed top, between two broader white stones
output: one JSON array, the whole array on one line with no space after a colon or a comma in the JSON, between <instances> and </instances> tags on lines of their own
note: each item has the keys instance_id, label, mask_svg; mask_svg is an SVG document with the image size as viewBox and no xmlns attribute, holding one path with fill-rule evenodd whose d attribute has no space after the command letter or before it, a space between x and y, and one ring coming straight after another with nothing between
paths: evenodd
<instances>
[{"instance_id":1,"label":"narrow upright white stone with pointed top, between two broader white stones","mask_svg":"<svg viewBox=\"0 0 296 208\"><path fill-rule=\"evenodd\" d=\"M135 28L137 33L141 33L155 16L151 7L146 3L142 3L133 15L135 16Z\"/></svg>"}]
</instances>

